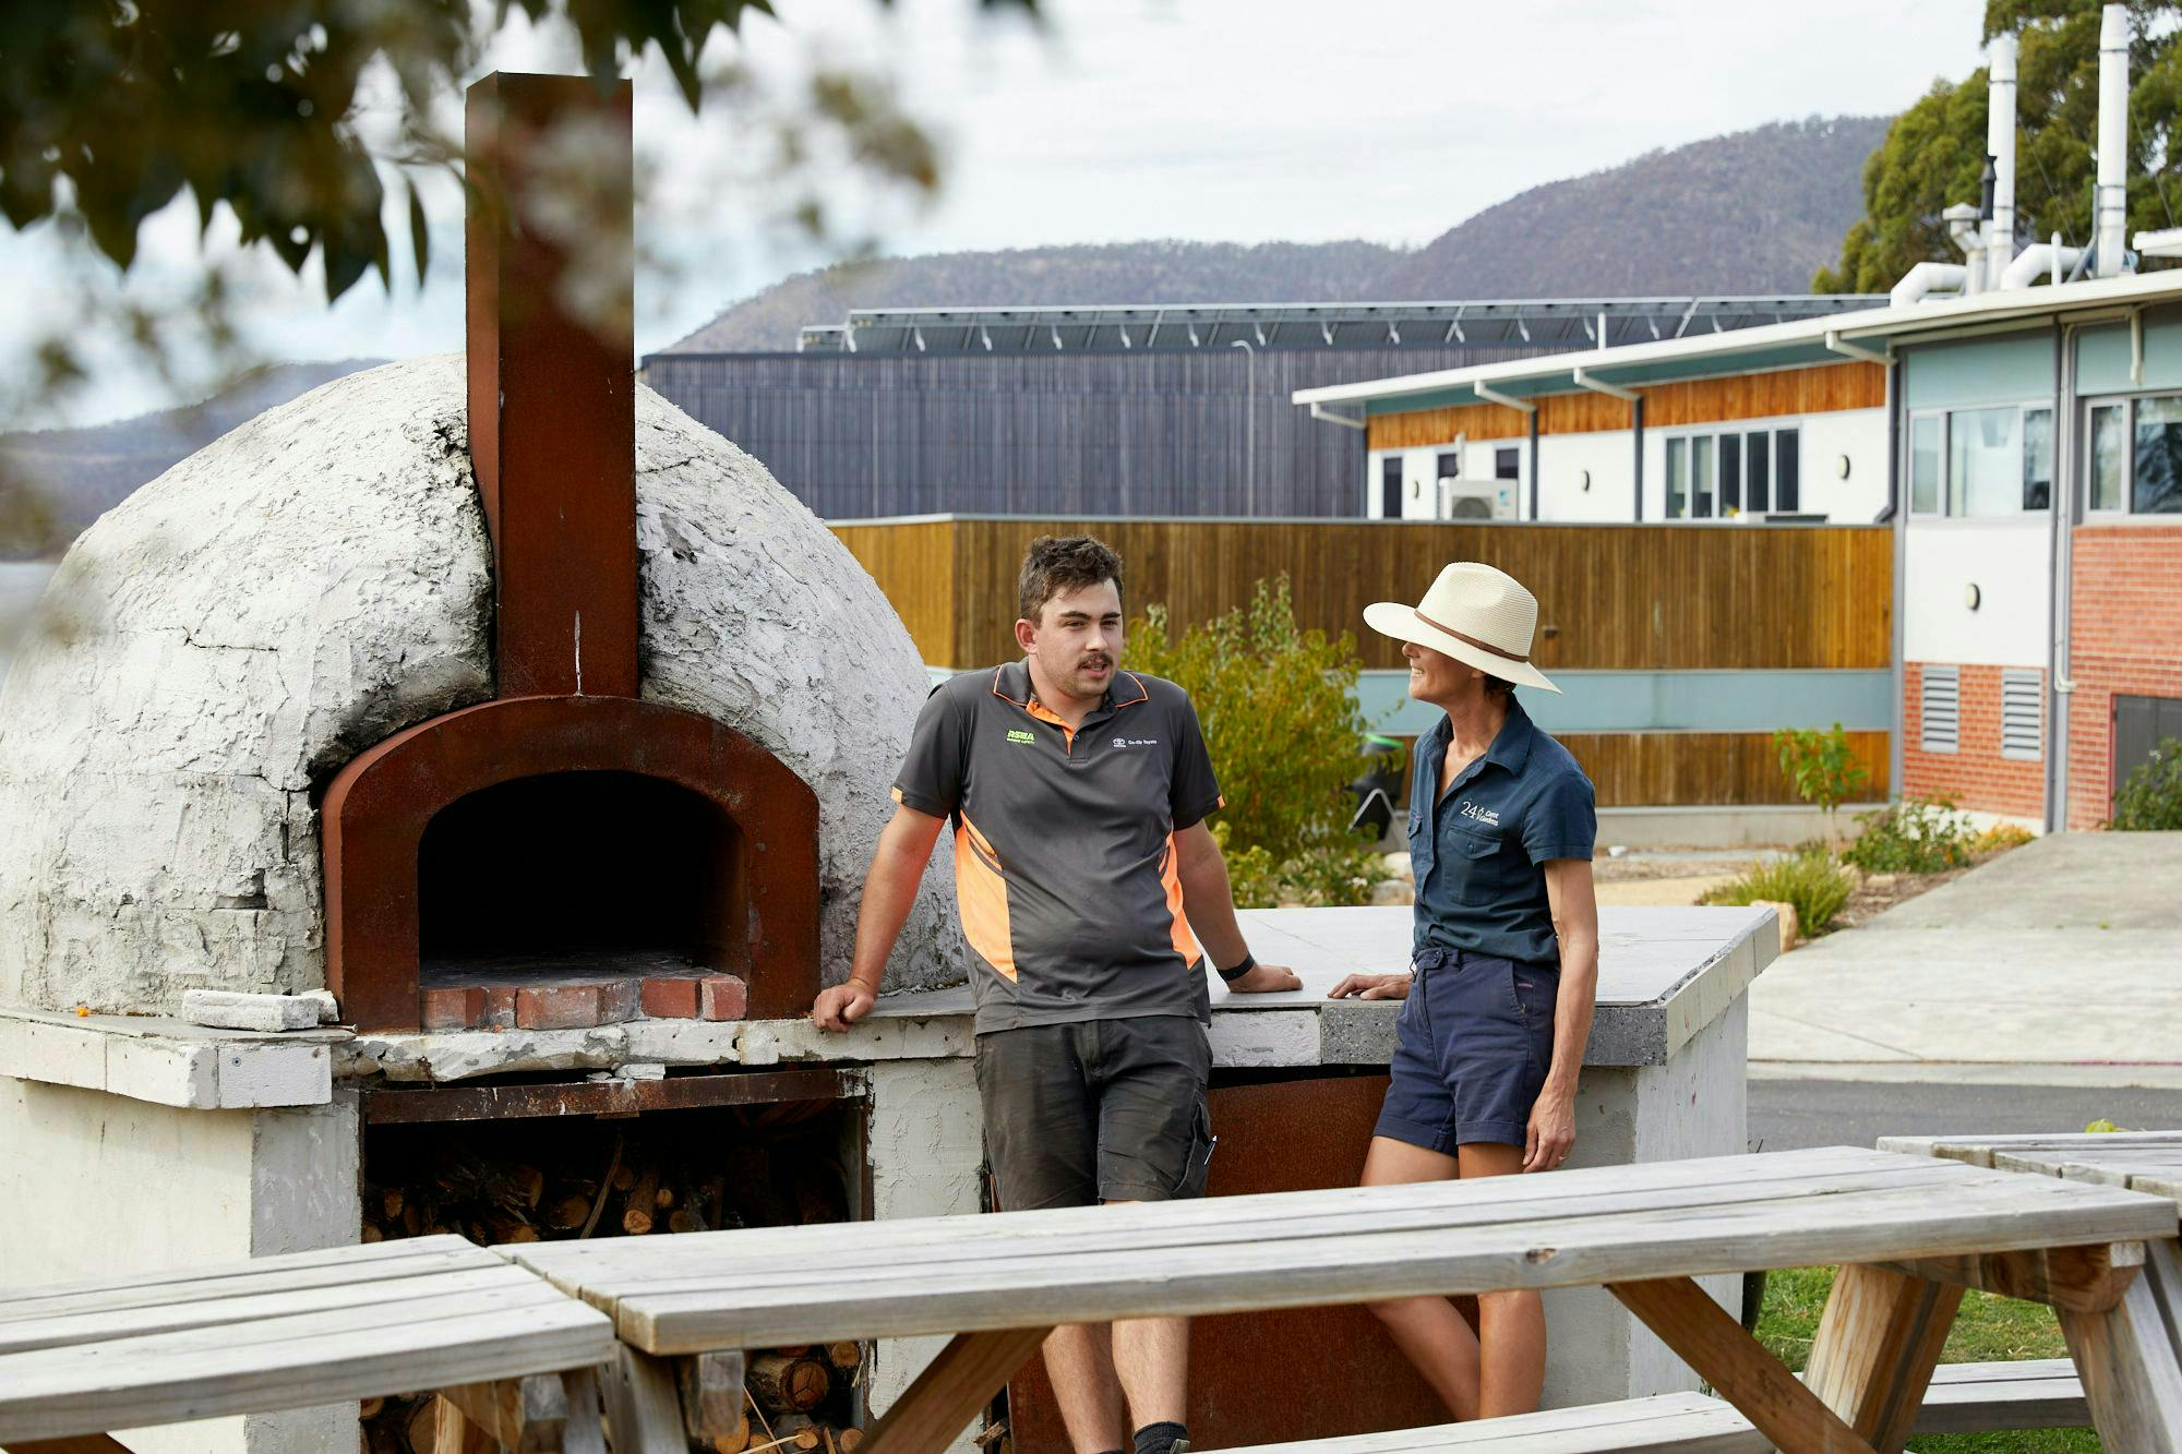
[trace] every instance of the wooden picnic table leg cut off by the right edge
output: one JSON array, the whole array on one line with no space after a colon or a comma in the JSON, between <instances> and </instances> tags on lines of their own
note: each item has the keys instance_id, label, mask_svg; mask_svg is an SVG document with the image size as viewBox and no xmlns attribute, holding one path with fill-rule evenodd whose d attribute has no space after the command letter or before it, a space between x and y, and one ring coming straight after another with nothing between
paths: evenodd
<instances>
[{"instance_id":1,"label":"wooden picnic table leg cut off by the right edge","mask_svg":"<svg viewBox=\"0 0 2182 1454\"><path fill-rule=\"evenodd\" d=\"M2182 1258L2145 1244L2145 1275L2106 1312L2060 1310L2084 1402L2110 1450L2182 1452Z\"/></svg>"}]
</instances>

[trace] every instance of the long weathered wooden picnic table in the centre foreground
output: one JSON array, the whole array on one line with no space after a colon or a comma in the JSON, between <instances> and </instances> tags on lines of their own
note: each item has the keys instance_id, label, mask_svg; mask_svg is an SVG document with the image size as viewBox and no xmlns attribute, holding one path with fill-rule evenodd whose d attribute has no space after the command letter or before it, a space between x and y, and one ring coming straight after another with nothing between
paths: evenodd
<instances>
[{"instance_id":1,"label":"long weathered wooden picnic table in the centre foreground","mask_svg":"<svg viewBox=\"0 0 2182 1454\"><path fill-rule=\"evenodd\" d=\"M2007 1282L2103 1327L2143 1240L2173 1231L2171 1203L2123 1188L1835 1146L495 1251L613 1316L615 1450L679 1450L696 1432L676 1399L694 1356L954 1334L864 1445L923 1454L947 1447L1056 1323L1604 1284L1778 1447L1835 1452L1901 1450L1964 1286ZM1691 1282L1826 1262L1848 1266L1809 1384ZM2134 1347L2117 1340L2106 1358L2134 1367ZM2138 1413L2130 1395L2112 1410Z\"/></svg>"}]
</instances>

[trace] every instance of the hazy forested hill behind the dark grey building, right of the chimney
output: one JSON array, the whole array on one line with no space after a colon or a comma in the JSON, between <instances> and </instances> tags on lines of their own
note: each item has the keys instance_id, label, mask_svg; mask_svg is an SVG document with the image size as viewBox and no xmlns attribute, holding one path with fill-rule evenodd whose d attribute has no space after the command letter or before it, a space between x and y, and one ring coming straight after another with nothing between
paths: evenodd
<instances>
[{"instance_id":1,"label":"hazy forested hill behind the dark grey building, right of the chimney","mask_svg":"<svg viewBox=\"0 0 2182 1454\"><path fill-rule=\"evenodd\" d=\"M1778 122L1549 181L1420 249L1377 242L1113 242L888 258L801 273L670 351L792 349L851 308L1318 303L1807 293L1863 212L1887 120Z\"/></svg>"}]
</instances>

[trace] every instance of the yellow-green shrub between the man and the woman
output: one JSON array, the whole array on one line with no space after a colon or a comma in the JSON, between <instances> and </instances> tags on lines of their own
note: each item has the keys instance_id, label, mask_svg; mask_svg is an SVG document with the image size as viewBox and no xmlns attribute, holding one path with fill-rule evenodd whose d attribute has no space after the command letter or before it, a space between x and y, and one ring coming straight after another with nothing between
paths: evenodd
<instances>
[{"instance_id":1,"label":"yellow-green shrub between the man and the woman","mask_svg":"<svg viewBox=\"0 0 2182 1454\"><path fill-rule=\"evenodd\" d=\"M1296 627L1287 576L1259 581L1248 607L1180 640L1170 640L1167 607L1146 607L1128 629L1124 666L1180 683L1196 701L1226 795L1220 823L1237 847L1287 865L1342 838L1355 812L1348 779L1364 766L1362 657L1346 631L1327 640Z\"/></svg>"}]
</instances>

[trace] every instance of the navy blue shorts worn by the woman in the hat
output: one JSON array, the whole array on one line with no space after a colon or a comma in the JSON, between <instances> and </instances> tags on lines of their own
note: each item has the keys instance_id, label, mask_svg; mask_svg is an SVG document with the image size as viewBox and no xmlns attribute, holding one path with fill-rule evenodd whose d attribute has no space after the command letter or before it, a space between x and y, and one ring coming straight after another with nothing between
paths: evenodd
<instances>
[{"instance_id":1,"label":"navy blue shorts worn by the woman in the hat","mask_svg":"<svg viewBox=\"0 0 2182 1454\"><path fill-rule=\"evenodd\" d=\"M1412 972L1375 1133L1449 1157L1521 1146L1554 1063L1560 974L1468 950L1418 950Z\"/></svg>"}]
</instances>

